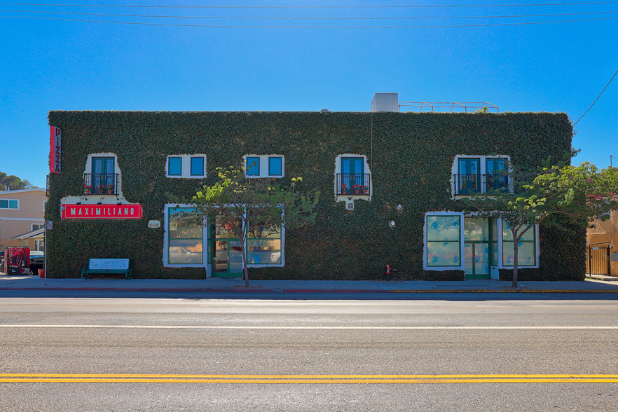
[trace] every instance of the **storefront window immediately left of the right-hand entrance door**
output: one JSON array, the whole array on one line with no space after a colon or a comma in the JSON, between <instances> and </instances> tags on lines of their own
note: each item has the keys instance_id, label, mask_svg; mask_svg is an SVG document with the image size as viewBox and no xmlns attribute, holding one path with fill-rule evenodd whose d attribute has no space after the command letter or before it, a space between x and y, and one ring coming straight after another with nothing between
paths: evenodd
<instances>
[{"instance_id":1,"label":"storefront window immediately left of the right-hand entrance door","mask_svg":"<svg viewBox=\"0 0 618 412\"><path fill-rule=\"evenodd\" d=\"M427 215L427 266L461 266L461 217Z\"/></svg>"}]
</instances>

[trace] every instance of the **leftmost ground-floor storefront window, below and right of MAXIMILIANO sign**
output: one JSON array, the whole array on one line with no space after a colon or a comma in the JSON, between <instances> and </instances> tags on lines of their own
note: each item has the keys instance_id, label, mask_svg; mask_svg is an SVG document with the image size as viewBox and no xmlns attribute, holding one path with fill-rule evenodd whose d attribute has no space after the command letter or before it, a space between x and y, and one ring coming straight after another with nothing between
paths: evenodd
<instances>
[{"instance_id":1,"label":"leftmost ground-floor storefront window, below and right of MAXIMILIANO sign","mask_svg":"<svg viewBox=\"0 0 618 412\"><path fill-rule=\"evenodd\" d=\"M203 263L203 228L195 208L174 207L168 213L168 263Z\"/></svg>"}]
</instances>

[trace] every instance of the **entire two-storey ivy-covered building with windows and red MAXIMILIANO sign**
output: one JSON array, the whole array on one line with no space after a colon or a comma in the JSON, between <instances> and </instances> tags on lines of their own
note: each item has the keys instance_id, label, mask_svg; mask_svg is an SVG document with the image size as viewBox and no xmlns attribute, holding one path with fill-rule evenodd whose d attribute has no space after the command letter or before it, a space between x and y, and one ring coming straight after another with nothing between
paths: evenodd
<instances>
[{"instance_id":1,"label":"entire two-storey ivy-covered building with windows and red MAXIMILIANO sign","mask_svg":"<svg viewBox=\"0 0 618 412\"><path fill-rule=\"evenodd\" d=\"M394 99L394 100L393 100ZM315 225L249 236L252 278L464 280L512 271L502 221L461 198L504 190L505 160L538 165L571 147L566 114L50 111L48 276L78 277L88 258L129 258L133 277L240 276L226 222L195 226L170 194L193 195L216 167L289 181L321 198ZM62 165L62 167L59 167ZM301 187L302 188L302 187ZM581 280L585 233L535 228L519 245L520 280Z\"/></svg>"}]
</instances>

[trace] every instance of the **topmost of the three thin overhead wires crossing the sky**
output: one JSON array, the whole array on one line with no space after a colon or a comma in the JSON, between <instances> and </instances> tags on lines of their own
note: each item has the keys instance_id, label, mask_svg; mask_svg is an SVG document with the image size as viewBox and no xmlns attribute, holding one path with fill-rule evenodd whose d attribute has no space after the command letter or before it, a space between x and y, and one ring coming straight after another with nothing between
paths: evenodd
<instances>
[{"instance_id":1,"label":"topmost of the three thin overhead wires crossing the sky","mask_svg":"<svg viewBox=\"0 0 618 412\"><path fill-rule=\"evenodd\" d=\"M0 6L69 6L69 7L122 7L122 8L460 8L460 7L517 7L517 6L584 6L593 4L618 4L618 1L587 1L579 3L537 4L457 4L435 6L126 6L120 4L48 4L48 3L0 3Z\"/></svg>"}]
</instances>

